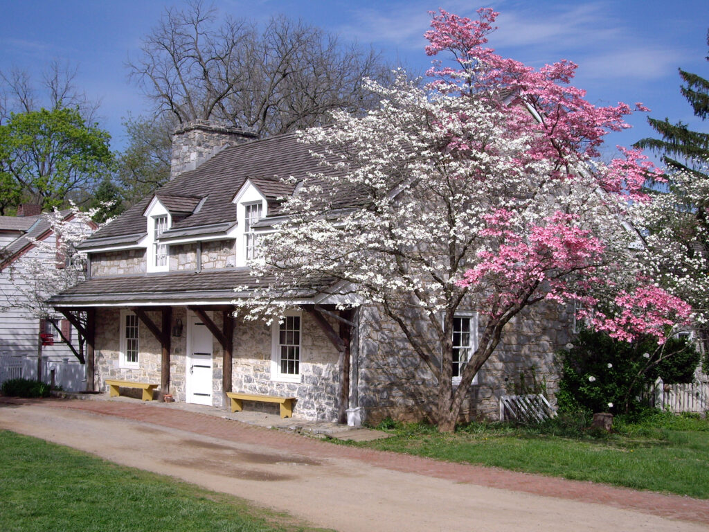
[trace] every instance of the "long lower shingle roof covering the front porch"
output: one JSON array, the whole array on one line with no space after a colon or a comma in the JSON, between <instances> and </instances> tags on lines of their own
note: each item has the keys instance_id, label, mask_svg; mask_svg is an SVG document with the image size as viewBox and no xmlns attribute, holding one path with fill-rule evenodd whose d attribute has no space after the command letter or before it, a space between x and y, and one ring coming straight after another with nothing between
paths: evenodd
<instances>
[{"instance_id":1,"label":"long lower shingle roof covering the front porch","mask_svg":"<svg viewBox=\"0 0 709 532\"><path fill-rule=\"evenodd\" d=\"M269 278L256 282L248 268L165 272L122 277L94 277L50 298L50 304L96 305L149 303L156 301L230 301L238 297L234 288L263 286ZM303 297L316 294L317 286L332 284L332 279L298 290ZM100 299L97 299L100 298Z\"/></svg>"}]
</instances>

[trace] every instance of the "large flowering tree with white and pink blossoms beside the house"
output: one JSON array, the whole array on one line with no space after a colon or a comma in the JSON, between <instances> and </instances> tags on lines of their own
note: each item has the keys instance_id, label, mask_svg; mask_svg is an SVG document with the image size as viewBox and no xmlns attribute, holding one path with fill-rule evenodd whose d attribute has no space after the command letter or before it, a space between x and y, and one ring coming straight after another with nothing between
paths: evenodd
<instances>
[{"instance_id":1,"label":"large flowering tree with white and pink blossoms beside the house","mask_svg":"<svg viewBox=\"0 0 709 532\"><path fill-rule=\"evenodd\" d=\"M435 62L423 89L403 72L390 87L367 82L378 109L303 133L323 171L262 238L253 267L274 280L236 301L252 318L279 315L294 286L326 277L341 306L376 305L430 370L440 431L452 431L506 324L531 306L580 303L579 318L624 340L663 338L689 314L637 259L629 200L650 201L642 184L661 174L637 150L594 160L630 108L589 104L569 85L571 62L534 70L496 55L486 48L495 18L435 14L426 52L452 66ZM461 365L454 316L471 308L479 340Z\"/></svg>"}]
</instances>

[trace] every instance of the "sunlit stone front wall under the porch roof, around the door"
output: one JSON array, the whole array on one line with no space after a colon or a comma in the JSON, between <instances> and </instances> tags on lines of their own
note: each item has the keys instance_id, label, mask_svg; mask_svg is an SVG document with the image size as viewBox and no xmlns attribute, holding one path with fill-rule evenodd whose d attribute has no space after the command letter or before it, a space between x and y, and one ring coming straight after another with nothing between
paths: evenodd
<instances>
[{"instance_id":1,"label":"sunlit stone front wall under the porch roof, around the door","mask_svg":"<svg viewBox=\"0 0 709 532\"><path fill-rule=\"evenodd\" d=\"M159 312L149 312L155 323L160 323ZM181 319L184 324L180 338L172 337L170 353L170 393L176 401L186 400L186 336L187 314L184 307L172 307L172 323ZM214 312L213 321L222 326L220 312ZM336 326L333 323L333 326ZM121 311L96 310L96 383L98 389L107 391L105 379L122 379L134 382L160 384L160 343L147 327L139 326L140 369L120 367ZM337 417L337 351L309 316L301 321L301 382L276 382L271 380L271 327L264 322L241 321L235 323L232 389L235 392L254 394L279 394L296 397L294 414L304 419L334 420ZM212 345L212 404L223 403L223 351L213 340ZM121 392L123 393L123 392ZM126 389L126 394L131 390ZM140 397L140 390L133 393ZM156 394L159 398L159 394ZM246 410L279 413L277 404L247 401Z\"/></svg>"}]
</instances>

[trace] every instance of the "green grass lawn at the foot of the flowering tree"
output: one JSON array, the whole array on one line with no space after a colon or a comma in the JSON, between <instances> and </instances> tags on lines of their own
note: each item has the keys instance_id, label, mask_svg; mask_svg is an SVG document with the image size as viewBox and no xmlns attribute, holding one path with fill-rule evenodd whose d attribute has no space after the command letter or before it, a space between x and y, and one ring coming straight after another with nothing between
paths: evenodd
<instances>
[{"instance_id":1,"label":"green grass lawn at the foot of the flowering tree","mask_svg":"<svg viewBox=\"0 0 709 532\"><path fill-rule=\"evenodd\" d=\"M709 498L709 421L657 414L595 437L559 421L515 428L472 423L454 434L390 423L391 438L354 445L508 470Z\"/></svg>"}]
</instances>

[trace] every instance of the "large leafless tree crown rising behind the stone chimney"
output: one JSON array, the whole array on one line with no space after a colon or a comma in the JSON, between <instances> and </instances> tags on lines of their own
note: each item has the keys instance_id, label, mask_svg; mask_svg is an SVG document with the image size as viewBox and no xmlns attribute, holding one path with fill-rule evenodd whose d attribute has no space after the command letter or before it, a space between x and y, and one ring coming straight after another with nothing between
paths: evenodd
<instances>
[{"instance_id":1,"label":"large leafless tree crown rising behind the stone chimney","mask_svg":"<svg viewBox=\"0 0 709 532\"><path fill-rule=\"evenodd\" d=\"M278 16L259 31L201 1L167 9L128 68L158 113L179 123L238 123L260 135L319 125L334 109L369 109L374 96L362 78L390 72L374 50L302 21Z\"/></svg>"}]
</instances>

